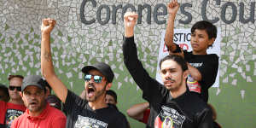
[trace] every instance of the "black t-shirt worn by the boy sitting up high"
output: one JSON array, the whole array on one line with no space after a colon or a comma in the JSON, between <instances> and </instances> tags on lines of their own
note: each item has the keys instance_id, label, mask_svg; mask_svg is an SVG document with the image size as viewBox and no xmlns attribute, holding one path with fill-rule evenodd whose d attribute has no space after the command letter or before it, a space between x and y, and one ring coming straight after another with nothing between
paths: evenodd
<instances>
[{"instance_id":1,"label":"black t-shirt worn by the boy sitting up high","mask_svg":"<svg viewBox=\"0 0 256 128\"><path fill-rule=\"evenodd\" d=\"M177 49L181 49L176 44ZM218 55L193 55L192 51L183 50L184 59L201 73L201 81L196 81L190 75L187 79L189 90L200 94L208 102L208 89L214 84L218 73Z\"/></svg>"}]
</instances>

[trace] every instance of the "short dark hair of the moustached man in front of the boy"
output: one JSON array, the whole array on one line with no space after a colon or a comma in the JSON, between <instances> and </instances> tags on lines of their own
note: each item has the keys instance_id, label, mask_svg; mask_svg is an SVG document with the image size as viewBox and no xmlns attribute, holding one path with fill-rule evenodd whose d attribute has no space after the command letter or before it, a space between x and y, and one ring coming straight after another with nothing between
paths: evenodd
<instances>
[{"instance_id":1,"label":"short dark hair of the moustached man in front of the boy","mask_svg":"<svg viewBox=\"0 0 256 128\"><path fill-rule=\"evenodd\" d=\"M178 65L180 65L180 67L182 67L183 69L183 72L188 70L188 65L187 65L187 61L185 61L183 59L182 56L180 55L167 55L166 57L162 58L160 60L160 69L161 69L161 65L162 65L162 62L163 61L166 61L166 60L172 60L172 61L176 61Z\"/></svg>"}]
</instances>

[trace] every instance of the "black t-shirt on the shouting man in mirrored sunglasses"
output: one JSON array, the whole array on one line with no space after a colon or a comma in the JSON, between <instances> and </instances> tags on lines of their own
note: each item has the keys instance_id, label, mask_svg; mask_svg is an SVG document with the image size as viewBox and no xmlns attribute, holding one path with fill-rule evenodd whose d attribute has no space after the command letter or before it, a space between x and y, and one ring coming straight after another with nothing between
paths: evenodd
<instances>
[{"instance_id":1,"label":"black t-shirt on the shouting man in mirrored sunglasses","mask_svg":"<svg viewBox=\"0 0 256 128\"><path fill-rule=\"evenodd\" d=\"M92 110L86 100L68 90L63 111L67 114L67 128L128 128L123 113L108 106Z\"/></svg>"}]
</instances>

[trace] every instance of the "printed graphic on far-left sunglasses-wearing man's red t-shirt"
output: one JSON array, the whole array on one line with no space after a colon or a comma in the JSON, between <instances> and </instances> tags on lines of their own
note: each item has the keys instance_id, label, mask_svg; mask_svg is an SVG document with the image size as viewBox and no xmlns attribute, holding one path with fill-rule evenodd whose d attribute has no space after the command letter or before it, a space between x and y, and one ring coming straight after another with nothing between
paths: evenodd
<instances>
[{"instance_id":1,"label":"printed graphic on far-left sunglasses-wearing man's red t-shirt","mask_svg":"<svg viewBox=\"0 0 256 128\"><path fill-rule=\"evenodd\" d=\"M5 124L6 127L9 128L12 122L22 114L23 111L16 109L7 109L5 113Z\"/></svg>"}]
</instances>

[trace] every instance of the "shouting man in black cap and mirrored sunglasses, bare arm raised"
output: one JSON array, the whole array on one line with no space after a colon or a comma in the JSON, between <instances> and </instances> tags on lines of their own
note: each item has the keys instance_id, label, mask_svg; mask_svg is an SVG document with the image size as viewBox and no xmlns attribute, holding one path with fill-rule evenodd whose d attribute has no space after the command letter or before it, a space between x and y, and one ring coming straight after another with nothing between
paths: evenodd
<instances>
[{"instance_id":1,"label":"shouting man in black cap and mirrored sunglasses, bare arm raised","mask_svg":"<svg viewBox=\"0 0 256 128\"><path fill-rule=\"evenodd\" d=\"M67 114L67 127L91 128L127 128L125 116L105 102L106 91L113 81L113 71L105 63L97 63L82 68L86 100L75 95L55 75L52 63L49 34L55 26L55 20L44 19L41 32L41 70L44 78L64 103L63 111Z\"/></svg>"}]
</instances>

